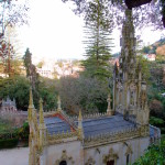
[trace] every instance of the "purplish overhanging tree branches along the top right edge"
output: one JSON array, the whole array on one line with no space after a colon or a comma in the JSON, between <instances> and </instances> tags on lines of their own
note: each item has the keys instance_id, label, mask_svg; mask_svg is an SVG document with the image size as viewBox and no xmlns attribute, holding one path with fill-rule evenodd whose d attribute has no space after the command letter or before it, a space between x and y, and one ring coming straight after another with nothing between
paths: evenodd
<instances>
[{"instance_id":1,"label":"purplish overhanging tree branches along the top right edge","mask_svg":"<svg viewBox=\"0 0 165 165\"><path fill-rule=\"evenodd\" d=\"M76 14L86 15L89 11L90 2L96 0L62 0L73 2ZM102 0L99 0L102 2ZM155 29L165 26L165 1L164 0L107 0L108 9L112 16L113 26L121 25L125 8L133 10L133 19L136 28L153 25ZM85 20L88 20L85 16ZM164 25L164 26L163 26Z\"/></svg>"}]
</instances>

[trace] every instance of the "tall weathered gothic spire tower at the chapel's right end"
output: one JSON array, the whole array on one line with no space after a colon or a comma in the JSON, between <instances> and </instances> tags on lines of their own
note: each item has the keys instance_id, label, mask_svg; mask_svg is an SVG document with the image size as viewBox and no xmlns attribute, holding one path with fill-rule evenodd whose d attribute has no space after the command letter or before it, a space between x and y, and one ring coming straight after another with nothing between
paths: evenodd
<instances>
[{"instance_id":1,"label":"tall weathered gothic spire tower at the chapel's right end","mask_svg":"<svg viewBox=\"0 0 165 165\"><path fill-rule=\"evenodd\" d=\"M122 26L121 55L119 66L114 66L113 109L125 119L136 117L139 123L146 123L148 109L146 102L146 82L141 76L141 65L136 64L134 25L132 10L125 10ZM142 97L143 96L143 97ZM147 119L144 117L147 113ZM142 121L145 120L145 121Z\"/></svg>"}]
</instances>

